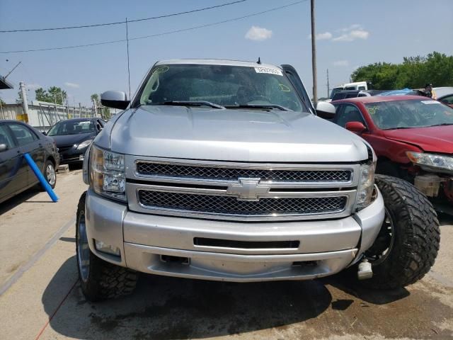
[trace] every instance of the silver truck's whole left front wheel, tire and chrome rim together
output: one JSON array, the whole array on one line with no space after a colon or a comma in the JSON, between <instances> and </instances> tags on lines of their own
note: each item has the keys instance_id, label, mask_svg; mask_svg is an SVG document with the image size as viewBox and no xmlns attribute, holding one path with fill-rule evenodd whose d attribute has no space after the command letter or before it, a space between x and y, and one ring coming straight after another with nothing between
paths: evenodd
<instances>
[{"instance_id":1,"label":"silver truck's whole left front wheel, tire and chrome rim together","mask_svg":"<svg viewBox=\"0 0 453 340\"><path fill-rule=\"evenodd\" d=\"M86 236L85 200L86 192L79 200L76 218L76 258L82 292L93 302L128 295L134 291L138 273L91 252Z\"/></svg>"}]
</instances>

